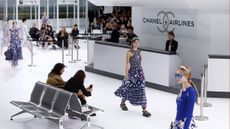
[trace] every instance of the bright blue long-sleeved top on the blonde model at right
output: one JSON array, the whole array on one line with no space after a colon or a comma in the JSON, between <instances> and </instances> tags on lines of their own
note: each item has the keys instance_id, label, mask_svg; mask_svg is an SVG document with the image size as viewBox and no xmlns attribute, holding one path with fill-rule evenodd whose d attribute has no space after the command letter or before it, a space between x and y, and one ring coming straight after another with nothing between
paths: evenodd
<instances>
[{"instance_id":1,"label":"bright blue long-sleeved top on the blonde model at right","mask_svg":"<svg viewBox=\"0 0 230 129\"><path fill-rule=\"evenodd\" d=\"M194 104L197 100L197 93L194 87L188 87L186 90L181 90L177 99L177 114L176 124L177 129L192 129L195 127L195 122L192 119ZM183 127L179 127L180 121L184 122Z\"/></svg>"}]
</instances>

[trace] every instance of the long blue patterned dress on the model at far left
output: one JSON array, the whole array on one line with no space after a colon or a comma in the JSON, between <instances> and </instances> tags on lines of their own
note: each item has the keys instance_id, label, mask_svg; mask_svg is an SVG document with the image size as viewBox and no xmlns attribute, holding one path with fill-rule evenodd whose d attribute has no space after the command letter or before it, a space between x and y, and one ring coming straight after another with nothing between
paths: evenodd
<instances>
[{"instance_id":1,"label":"long blue patterned dress on the model at far left","mask_svg":"<svg viewBox=\"0 0 230 129\"><path fill-rule=\"evenodd\" d=\"M11 33L10 50L12 52L12 65L16 66L18 64L18 60L22 59L22 48L19 39L19 29L11 28L9 31Z\"/></svg>"}]
</instances>

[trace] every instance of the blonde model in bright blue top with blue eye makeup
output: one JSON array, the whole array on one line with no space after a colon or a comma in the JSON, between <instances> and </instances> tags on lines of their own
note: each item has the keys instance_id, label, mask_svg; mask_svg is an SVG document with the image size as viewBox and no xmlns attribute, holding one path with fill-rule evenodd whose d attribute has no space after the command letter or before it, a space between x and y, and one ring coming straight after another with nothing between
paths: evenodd
<instances>
[{"instance_id":1,"label":"blonde model in bright blue top with blue eye makeup","mask_svg":"<svg viewBox=\"0 0 230 129\"><path fill-rule=\"evenodd\" d=\"M186 66L180 66L176 72L176 79L182 88L176 99L176 121L172 123L171 128L193 129L195 127L195 122L192 119L193 109L197 102L198 91L191 80L191 70Z\"/></svg>"}]
</instances>

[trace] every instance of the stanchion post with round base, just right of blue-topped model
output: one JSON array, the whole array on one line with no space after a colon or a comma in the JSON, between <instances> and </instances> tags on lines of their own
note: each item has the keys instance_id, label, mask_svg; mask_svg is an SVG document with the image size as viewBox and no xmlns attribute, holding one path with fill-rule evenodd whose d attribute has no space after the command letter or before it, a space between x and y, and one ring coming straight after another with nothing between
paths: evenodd
<instances>
[{"instance_id":1,"label":"stanchion post with round base, just right of blue-topped model","mask_svg":"<svg viewBox=\"0 0 230 129\"><path fill-rule=\"evenodd\" d=\"M204 108L204 73L201 73L200 115L194 117L198 121L208 120L208 117L203 115L203 108Z\"/></svg>"}]
</instances>

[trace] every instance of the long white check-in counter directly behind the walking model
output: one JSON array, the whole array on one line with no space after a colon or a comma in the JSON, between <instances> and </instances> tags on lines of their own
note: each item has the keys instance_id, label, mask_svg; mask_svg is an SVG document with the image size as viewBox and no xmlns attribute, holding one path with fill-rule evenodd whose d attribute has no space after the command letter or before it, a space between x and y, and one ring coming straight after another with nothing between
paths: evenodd
<instances>
[{"instance_id":1,"label":"long white check-in counter directly behind the walking model","mask_svg":"<svg viewBox=\"0 0 230 129\"><path fill-rule=\"evenodd\" d=\"M93 68L96 70L125 75L126 53L130 46L105 41L94 44ZM160 86L175 86L175 71L181 65L181 58L164 50L140 47L145 80Z\"/></svg>"}]
</instances>

